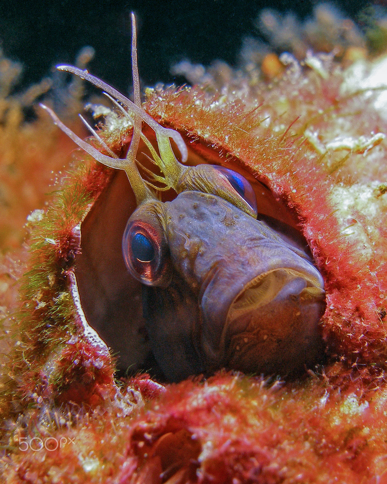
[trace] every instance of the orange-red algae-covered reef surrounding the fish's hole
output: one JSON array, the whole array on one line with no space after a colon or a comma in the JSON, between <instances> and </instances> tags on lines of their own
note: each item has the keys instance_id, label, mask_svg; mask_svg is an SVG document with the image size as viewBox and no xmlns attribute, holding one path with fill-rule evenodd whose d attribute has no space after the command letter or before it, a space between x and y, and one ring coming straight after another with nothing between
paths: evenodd
<instances>
[{"instance_id":1,"label":"orange-red algae-covered reef surrounding the fish's hole","mask_svg":"<svg viewBox=\"0 0 387 484\"><path fill-rule=\"evenodd\" d=\"M220 371L165 386L148 375L116 382L95 328L121 282L104 286L102 257L93 286L85 258L97 259L109 207L119 203L110 222L123 232L136 201L124 173L78 151L62 190L30 221L1 382L4 482L387 482L386 57L327 5L302 26L291 20L272 11L259 20L288 52L249 40L239 71L180 64L197 85L148 89L144 108L183 136L192 165L240 170L270 200L266 215L276 204L278 219L301 230L324 279L324 364L298 379ZM375 20L368 37L383 26ZM92 110L104 114L98 135L125 157L132 126ZM109 260L119 260L122 232L105 229Z\"/></svg>"}]
</instances>

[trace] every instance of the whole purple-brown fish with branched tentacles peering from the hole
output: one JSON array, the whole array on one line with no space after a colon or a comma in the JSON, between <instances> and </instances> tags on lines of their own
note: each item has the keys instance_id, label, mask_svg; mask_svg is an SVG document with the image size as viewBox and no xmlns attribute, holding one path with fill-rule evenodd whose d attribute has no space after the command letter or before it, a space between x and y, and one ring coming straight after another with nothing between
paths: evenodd
<instances>
[{"instance_id":1,"label":"whole purple-brown fish with branched tentacles peering from the hole","mask_svg":"<svg viewBox=\"0 0 387 484\"><path fill-rule=\"evenodd\" d=\"M125 157L119 158L89 126L100 143L97 150L41 106L95 160L126 172L136 208L122 235L122 254L128 272L142 285L143 318L156 362L168 381L208 376L221 368L300 372L322 355L323 278L291 227L269 226L243 175L224 166L184 165L188 151L179 132L164 128L141 107L133 15L132 22L134 102L87 71L57 67L103 89L133 126ZM153 130L157 147L142 122ZM148 148L149 167L136 159L140 140ZM168 190L176 198L162 201L160 194ZM130 337L122 341L125 354L134 344ZM130 363L138 367L142 362Z\"/></svg>"}]
</instances>

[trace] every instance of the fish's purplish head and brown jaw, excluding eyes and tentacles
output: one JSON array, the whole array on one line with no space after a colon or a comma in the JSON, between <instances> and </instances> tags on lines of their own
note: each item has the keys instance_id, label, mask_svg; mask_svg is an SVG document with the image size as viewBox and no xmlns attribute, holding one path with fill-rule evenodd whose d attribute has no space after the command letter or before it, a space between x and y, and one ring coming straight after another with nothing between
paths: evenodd
<instances>
[{"instance_id":1,"label":"fish's purplish head and brown jaw, excluding eyes and tentacles","mask_svg":"<svg viewBox=\"0 0 387 484\"><path fill-rule=\"evenodd\" d=\"M142 304L165 377L179 381L223 367L289 374L315 362L325 292L309 255L215 195L185 191L161 205L133 213L123 251L133 258L139 220L159 224L164 247L155 243L154 250L170 275L167 284L146 281Z\"/></svg>"}]
</instances>

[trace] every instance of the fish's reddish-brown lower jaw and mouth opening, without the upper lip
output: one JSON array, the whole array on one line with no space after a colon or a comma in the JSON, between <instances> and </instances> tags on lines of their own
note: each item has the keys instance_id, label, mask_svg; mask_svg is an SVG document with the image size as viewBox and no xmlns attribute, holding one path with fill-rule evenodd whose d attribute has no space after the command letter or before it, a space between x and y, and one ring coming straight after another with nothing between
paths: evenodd
<instances>
[{"instance_id":1,"label":"fish's reddish-brown lower jaw and mouth opening, without the upper lip","mask_svg":"<svg viewBox=\"0 0 387 484\"><path fill-rule=\"evenodd\" d=\"M261 273L229 304L212 356L244 373L297 374L323 353L318 323L324 311L325 291L312 272Z\"/></svg>"}]
</instances>

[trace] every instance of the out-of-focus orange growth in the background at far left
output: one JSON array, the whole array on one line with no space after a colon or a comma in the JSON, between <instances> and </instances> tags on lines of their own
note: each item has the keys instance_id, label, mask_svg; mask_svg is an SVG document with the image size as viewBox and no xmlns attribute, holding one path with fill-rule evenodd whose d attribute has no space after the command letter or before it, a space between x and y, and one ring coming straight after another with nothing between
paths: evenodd
<instances>
[{"instance_id":1,"label":"out-of-focus orange growth in the background at far left","mask_svg":"<svg viewBox=\"0 0 387 484\"><path fill-rule=\"evenodd\" d=\"M91 57L92 52L83 49L76 62L85 66ZM37 116L34 122L24 119L23 110L32 108L35 100L50 89L52 80L45 78L24 92L11 94L22 66L2 52L0 63L0 316L3 318L16 307L17 282L26 270L28 258L25 242L29 225L42 218L48 193L71 163L74 143L44 117ZM74 119L74 113L82 106L82 90L74 89L76 84L77 81L63 114L77 133L85 134L80 121ZM62 94L66 95L64 85Z\"/></svg>"}]
</instances>

